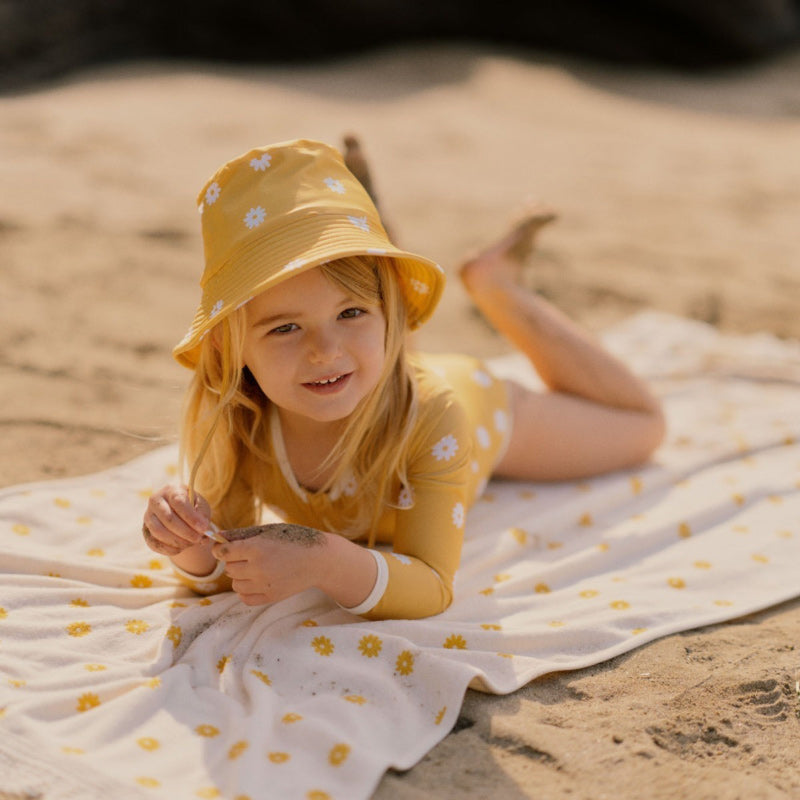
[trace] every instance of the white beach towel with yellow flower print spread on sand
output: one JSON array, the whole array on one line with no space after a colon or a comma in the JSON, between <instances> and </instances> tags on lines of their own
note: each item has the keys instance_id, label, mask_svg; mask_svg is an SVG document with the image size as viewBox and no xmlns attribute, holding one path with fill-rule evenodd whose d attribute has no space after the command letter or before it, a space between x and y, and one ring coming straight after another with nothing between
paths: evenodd
<instances>
[{"instance_id":1,"label":"white beach towel with yellow flower print spread on sand","mask_svg":"<svg viewBox=\"0 0 800 800\"><path fill-rule=\"evenodd\" d=\"M658 314L607 342L663 396L666 444L636 471L490 484L455 601L426 620L189 594L140 534L171 447L0 493L0 789L367 798L468 686L511 692L799 594L800 347Z\"/></svg>"}]
</instances>

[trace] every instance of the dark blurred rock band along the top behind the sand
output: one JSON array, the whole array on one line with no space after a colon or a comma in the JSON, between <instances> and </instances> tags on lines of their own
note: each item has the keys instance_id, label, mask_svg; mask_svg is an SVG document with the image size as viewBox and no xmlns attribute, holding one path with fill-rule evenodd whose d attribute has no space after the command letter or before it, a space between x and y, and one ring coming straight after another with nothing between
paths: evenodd
<instances>
[{"instance_id":1,"label":"dark blurred rock band along the top behind the sand","mask_svg":"<svg viewBox=\"0 0 800 800\"><path fill-rule=\"evenodd\" d=\"M0 0L0 89L120 60L307 61L431 40L698 68L796 45L800 0Z\"/></svg>"}]
</instances>

